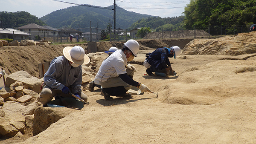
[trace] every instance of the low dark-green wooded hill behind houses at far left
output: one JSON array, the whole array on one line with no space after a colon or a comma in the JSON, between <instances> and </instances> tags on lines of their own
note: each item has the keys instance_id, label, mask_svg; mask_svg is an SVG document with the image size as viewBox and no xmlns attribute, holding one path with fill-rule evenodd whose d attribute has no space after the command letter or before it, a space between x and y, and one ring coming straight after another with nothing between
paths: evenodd
<instances>
[{"instance_id":1,"label":"low dark-green wooded hill behind houses at far left","mask_svg":"<svg viewBox=\"0 0 256 144\"><path fill-rule=\"evenodd\" d=\"M29 23L35 23L40 26L46 25L44 22L40 21L38 17L31 15L29 12L0 12L2 28L17 28L20 26L25 26Z\"/></svg>"}]
</instances>

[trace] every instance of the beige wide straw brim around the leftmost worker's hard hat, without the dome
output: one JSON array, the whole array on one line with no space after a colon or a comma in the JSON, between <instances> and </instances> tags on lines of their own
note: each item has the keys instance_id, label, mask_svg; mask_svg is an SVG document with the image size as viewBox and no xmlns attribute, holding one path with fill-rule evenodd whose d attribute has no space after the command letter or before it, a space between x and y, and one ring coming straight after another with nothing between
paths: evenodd
<instances>
[{"instance_id":1,"label":"beige wide straw brim around the leftmost worker's hard hat, without the dome","mask_svg":"<svg viewBox=\"0 0 256 144\"><path fill-rule=\"evenodd\" d=\"M85 65L87 63L90 63L90 58L85 54L84 54L84 58L81 58L81 60L76 60L75 58L73 58L70 55L70 50L72 48L73 48L72 46L67 46L67 47L64 47L64 49L63 49L63 55L65 58L67 58L67 60L71 61L72 63L79 64L79 65Z\"/></svg>"}]
</instances>

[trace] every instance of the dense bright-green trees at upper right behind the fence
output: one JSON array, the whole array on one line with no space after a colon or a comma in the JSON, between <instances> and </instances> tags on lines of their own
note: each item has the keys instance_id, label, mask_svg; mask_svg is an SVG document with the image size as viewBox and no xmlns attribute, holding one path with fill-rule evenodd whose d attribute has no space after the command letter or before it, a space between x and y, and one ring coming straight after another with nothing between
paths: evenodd
<instances>
[{"instance_id":1,"label":"dense bright-green trees at upper right behind the fence","mask_svg":"<svg viewBox=\"0 0 256 144\"><path fill-rule=\"evenodd\" d=\"M184 10L186 29L256 23L256 0L190 0Z\"/></svg>"}]
</instances>

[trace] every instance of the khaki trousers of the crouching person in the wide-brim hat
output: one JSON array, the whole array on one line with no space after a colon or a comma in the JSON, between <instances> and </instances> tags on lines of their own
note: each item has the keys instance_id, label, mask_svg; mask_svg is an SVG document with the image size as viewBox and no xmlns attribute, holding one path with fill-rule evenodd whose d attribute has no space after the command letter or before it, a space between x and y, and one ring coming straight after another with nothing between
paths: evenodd
<instances>
[{"instance_id":1,"label":"khaki trousers of the crouching person in the wide-brim hat","mask_svg":"<svg viewBox=\"0 0 256 144\"><path fill-rule=\"evenodd\" d=\"M42 89L39 99L42 104L47 104L50 101L52 101L52 98L55 97L56 95L59 95L61 97L73 97L68 94L64 94L61 90L58 89L52 89L49 86L45 85L44 88ZM79 95L81 99L83 99L85 102L87 102L87 95L85 95L83 92L81 92L81 95Z\"/></svg>"}]
</instances>

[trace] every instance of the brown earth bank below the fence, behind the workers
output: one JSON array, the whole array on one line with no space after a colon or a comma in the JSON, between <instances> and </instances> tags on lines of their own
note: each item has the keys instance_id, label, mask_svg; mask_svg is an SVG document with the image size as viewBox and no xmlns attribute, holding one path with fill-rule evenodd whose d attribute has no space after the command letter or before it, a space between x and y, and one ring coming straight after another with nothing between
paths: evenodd
<instances>
[{"instance_id":1,"label":"brown earth bank below the fence, behind the workers","mask_svg":"<svg viewBox=\"0 0 256 144\"><path fill-rule=\"evenodd\" d=\"M159 47L180 46L183 48L192 39L181 40L137 40L141 50L157 49ZM116 46L121 49L125 42L97 42L99 52L107 51ZM148 44L149 43L149 44ZM30 75L39 78L38 64L51 61L57 56L63 55L65 46L81 46L87 49L87 43L61 44L61 45L36 45L36 46L3 46L0 47L0 67L11 73L24 70Z\"/></svg>"}]
</instances>

